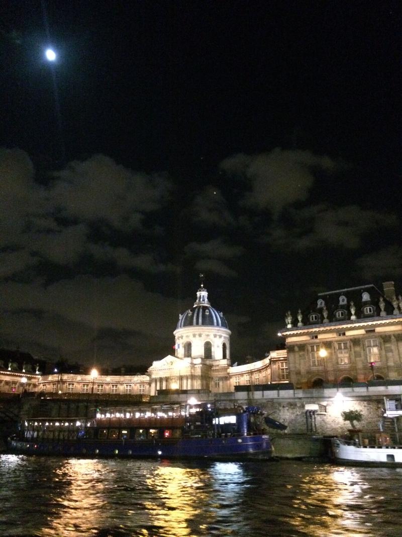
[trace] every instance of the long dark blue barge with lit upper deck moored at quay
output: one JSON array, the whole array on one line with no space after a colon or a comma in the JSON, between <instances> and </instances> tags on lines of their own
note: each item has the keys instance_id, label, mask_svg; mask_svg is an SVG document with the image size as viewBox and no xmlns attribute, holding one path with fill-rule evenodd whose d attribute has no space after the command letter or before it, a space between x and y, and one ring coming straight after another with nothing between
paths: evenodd
<instances>
[{"instance_id":1,"label":"long dark blue barge with lit upper deck moored at quay","mask_svg":"<svg viewBox=\"0 0 402 537\"><path fill-rule=\"evenodd\" d=\"M80 457L270 459L256 407L207 403L96 409L94 418L30 418L11 453Z\"/></svg>"}]
</instances>

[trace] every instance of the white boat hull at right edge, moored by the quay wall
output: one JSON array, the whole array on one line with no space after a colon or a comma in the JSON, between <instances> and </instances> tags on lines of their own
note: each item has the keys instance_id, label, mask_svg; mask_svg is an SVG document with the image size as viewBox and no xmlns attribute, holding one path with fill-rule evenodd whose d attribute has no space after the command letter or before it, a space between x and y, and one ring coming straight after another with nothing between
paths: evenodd
<instances>
[{"instance_id":1,"label":"white boat hull at right edge, moored by the quay wall","mask_svg":"<svg viewBox=\"0 0 402 537\"><path fill-rule=\"evenodd\" d=\"M331 443L336 462L365 466L402 466L402 445L362 446L340 438L332 438Z\"/></svg>"}]
</instances>

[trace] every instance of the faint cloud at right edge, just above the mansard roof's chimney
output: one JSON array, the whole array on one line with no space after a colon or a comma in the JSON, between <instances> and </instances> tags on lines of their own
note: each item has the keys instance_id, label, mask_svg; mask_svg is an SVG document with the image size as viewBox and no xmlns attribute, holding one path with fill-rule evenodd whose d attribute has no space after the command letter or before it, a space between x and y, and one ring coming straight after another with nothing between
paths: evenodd
<instances>
[{"instance_id":1,"label":"faint cloud at right edge, just above the mansard roof's chimney","mask_svg":"<svg viewBox=\"0 0 402 537\"><path fill-rule=\"evenodd\" d=\"M356 260L359 267L359 274L367 280L374 280L378 277L393 279L402 275L402 251L400 246L394 244L367 253Z\"/></svg>"}]
</instances>

